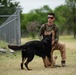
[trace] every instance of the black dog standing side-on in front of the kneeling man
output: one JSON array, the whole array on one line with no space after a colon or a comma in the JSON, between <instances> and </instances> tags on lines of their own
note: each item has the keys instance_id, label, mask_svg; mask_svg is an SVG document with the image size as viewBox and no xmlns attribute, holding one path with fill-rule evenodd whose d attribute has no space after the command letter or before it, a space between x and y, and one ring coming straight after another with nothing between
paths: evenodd
<instances>
[{"instance_id":1,"label":"black dog standing side-on in front of the kneeling man","mask_svg":"<svg viewBox=\"0 0 76 75\"><path fill-rule=\"evenodd\" d=\"M21 63L21 69L23 69L23 63L25 59L27 58L27 61L25 62L25 67L28 68L28 63L31 62L34 58L34 55L38 55L43 58L44 66L45 64L45 57L47 56L49 61L51 62L51 50L52 50L52 34L46 35L41 41L29 41L21 46L15 46L15 45L8 45L10 49L13 50L20 50L22 49L22 63Z\"/></svg>"}]
</instances>

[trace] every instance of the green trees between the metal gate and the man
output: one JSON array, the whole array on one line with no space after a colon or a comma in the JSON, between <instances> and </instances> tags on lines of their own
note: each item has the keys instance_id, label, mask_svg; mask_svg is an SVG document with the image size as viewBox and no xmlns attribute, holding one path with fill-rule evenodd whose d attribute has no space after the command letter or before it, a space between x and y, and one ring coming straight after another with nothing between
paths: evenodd
<instances>
[{"instance_id":1,"label":"green trees between the metal gate and the man","mask_svg":"<svg viewBox=\"0 0 76 75\"><path fill-rule=\"evenodd\" d=\"M28 27L27 25L29 25L29 27L31 27L31 24L34 23L35 25L32 25L33 29L35 30L35 31L33 31L33 36L36 35L39 27L43 23L47 22L48 12L53 12L53 11L47 5L45 5L40 9L31 10L28 14L23 14L24 17L22 19L22 24L21 24L22 32L27 34L27 32L30 31L30 28L27 28ZM37 24L35 22L37 22ZM30 34L30 32L29 32L29 34Z\"/></svg>"}]
</instances>

